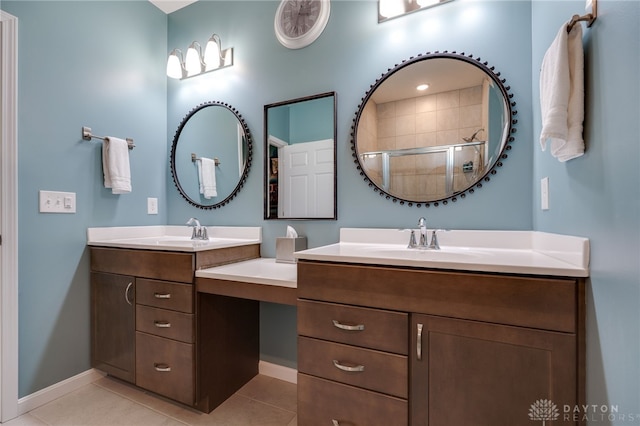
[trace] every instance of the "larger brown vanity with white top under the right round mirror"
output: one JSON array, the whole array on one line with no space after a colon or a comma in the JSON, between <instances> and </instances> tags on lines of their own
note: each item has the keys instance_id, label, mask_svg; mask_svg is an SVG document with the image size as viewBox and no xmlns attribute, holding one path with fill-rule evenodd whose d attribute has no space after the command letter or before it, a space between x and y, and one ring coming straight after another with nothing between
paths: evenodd
<instances>
[{"instance_id":1,"label":"larger brown vanity with white top under the right round mirror","mask_svg":"<svg viewBox=\"0 0 640 426\"><path fill-rule=\"evenodd\" d=\"M588 241L452 233L429 252L374 232L297 253L299 424L530 425L539 400L574 424Z\"/></svg>"}]
</instances>

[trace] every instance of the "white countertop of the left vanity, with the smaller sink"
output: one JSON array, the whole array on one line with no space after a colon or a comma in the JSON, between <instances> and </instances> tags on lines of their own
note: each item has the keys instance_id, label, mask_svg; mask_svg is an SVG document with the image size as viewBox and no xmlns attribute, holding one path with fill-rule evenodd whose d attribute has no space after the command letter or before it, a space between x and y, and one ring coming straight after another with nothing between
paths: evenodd
<instances>
[{"instance_id":1,"label":"white countertop of the left vanity, with the smaller sink","mask_svg":"<svg viewBox=\"0 0 640 426\"><path fill-rule=\"evenodd\" d=\"M187 226L120 226L87 229L87 244L99 247L197 252L262 242L262 228L207 226L209 240L191 240Z\"/></svg>"}]
</instances>

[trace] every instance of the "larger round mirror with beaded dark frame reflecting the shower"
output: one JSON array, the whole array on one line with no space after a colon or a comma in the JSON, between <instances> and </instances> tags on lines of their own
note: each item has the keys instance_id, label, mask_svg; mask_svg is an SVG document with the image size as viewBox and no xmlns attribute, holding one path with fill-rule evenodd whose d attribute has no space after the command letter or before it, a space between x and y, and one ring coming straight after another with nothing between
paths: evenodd
<instances>
[{"instance_id":1,"label":"larger round mirror with beaded dark frame reflecting the shower","mask_svg":"<svg viewBox=\"0 0 640 426\"><path fill-rule=\"evenodd\" d=\"M384 74L354 119L354 161L369 186L394 202L428 207L489 181L517 122L499 76L455 52L420 55Z\"/></svg>"}]
</instances>

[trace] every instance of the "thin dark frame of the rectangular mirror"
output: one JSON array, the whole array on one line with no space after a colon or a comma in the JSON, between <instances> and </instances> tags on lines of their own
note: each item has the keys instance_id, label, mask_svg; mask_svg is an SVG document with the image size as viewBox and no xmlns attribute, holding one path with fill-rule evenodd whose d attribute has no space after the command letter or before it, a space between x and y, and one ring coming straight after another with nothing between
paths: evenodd
<instances>
[{"instance_id":1,"label":"thin dark frame of the rectangular mirror","mask_svg":"<svg viewBox=\"0 0 640 426\"><path fill-rule=\"evenodd\" d=\"M269 215L269 108L292 105L315 99L333 97L333 216L325 217L271 217ZM264 219L265 220L337 220L338 219L338 94L325 92L302 98L290 99L264 106Z\"/></svg>"}]
</instances>

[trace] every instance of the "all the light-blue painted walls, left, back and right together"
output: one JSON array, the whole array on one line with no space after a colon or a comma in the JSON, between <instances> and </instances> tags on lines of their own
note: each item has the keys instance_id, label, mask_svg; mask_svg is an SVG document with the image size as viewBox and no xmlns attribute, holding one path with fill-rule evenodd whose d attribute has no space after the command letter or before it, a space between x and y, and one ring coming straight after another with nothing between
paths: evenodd
<instances>
[{"instance_id":1,"label":"all the light-blue painted walls, left, back and right together","mask_svg":"<svg viewBox=\"0 0 640 426\"><path fill-rule=\"evenodd\" d=\"M434 227L589 237L588 402L640 413L639 4L601 0L599 20L585 31L588 150L566 164L540 152L537 79L544 51L559 26L584 10L581 0L456 0L383 24L375 1L334 0L326 30L301 50L277 42L277 4L200 1L166 17L144 1L2 3L20 19L20 395L89 367L87 227L183 224L190 216L259 225L263 255L272 257L275 237L289 224L316 247L337 241L340 227L409 227L425 215ZM213 32L223 48L234 47L235 65L167 82L168 52ZM448 206L409 208L362 181L350 128L380 74L435 50L464 51L495 66L517 101L518 132L504 166L481 190ZM329 91L338 95L338 220L263 220L263 106ZM238 197L203 211L173 186L168 153L184 116L211 100L240 111L254 155ZM102 188L100 144L80 140L82 125L135 138L132 194ZM543 176L551 183L545 212ZM78 213L38 214L39 189L77 192ZM149 196L159 198L160 215L146 215ZM262 319L263 359L295 366L295 309L264 304Z\"/></svg>"}]
</instances>

